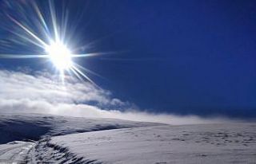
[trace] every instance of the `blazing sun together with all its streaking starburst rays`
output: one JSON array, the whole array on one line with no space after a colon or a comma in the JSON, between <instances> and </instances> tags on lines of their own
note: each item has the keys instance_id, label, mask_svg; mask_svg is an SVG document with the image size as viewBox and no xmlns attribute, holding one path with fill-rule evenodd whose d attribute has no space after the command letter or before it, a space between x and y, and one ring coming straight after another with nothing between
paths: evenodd
<instances>
[{"instance_id":1,"label":"blazing sun together with all its streaking starburst rays","mask_svg":"<svg viewBox=\"0 0 256 164\"><path fill-rule=\"evenodd\" d=\"M31 14L31 19L25 17L25 14L20 13L19 15L10 16L10 14L6 14L6 18L9 18L14 26L18 26L18 31L8 29L7 30L14 34L15 37L18 37L16 43L21 45L30 46L30 44L36 45L41 52L38 53L30 53L30 54L21 54L21 53L2 53L0 54L0 58L6 59L46 59L51 61L54 65L56 72L58 72L59 78L62 81L62 84L65 85L66 73L69 75L67 79L70 79L70 76L74 76L79 80L87 80L91 84L94 84L97 88L98 85L90 79L86 73L90 73L94 76L99 76L103 79L101 75L91 71L89 68L85 68L82 65L75 63L73 58L86 58L86 57L98 57L104 54L110 54L110 52L106 53L83 53L76 49L70 49L68 43L70 43L70 29L68 28L68 10L64 9L64 12L61 15L61 20L58 20L58 14L56 13L54 2L48 0L49 6L49 15L44 15L40 10L38 4L34 1L31 1L32 10L30 12L34 12ZM18 17L23 19L18 19ZM46 18L48 16L49 18ZM33 17L34 21L33 21ZM60 23L60 24L59 24ZM34 29L36 27L36 29ZM75 31L74 29L71 31ZM69 33L69 35L67 35ZM14 40L15 41L15 40ZM113 52L111 52L113 53Z\"/></svg>"}]
</instances>

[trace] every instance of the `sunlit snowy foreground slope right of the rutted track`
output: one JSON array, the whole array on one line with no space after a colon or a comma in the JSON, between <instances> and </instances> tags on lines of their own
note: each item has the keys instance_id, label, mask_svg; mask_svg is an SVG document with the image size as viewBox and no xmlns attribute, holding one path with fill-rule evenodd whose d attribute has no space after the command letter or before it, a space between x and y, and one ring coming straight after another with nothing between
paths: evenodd
<instances>
[{"instance_id":1,"label":"sunlit snowy foreground slope right of the rutted track","mask_svg":"<svg viewBox=\"0 0 256 164\"><path fill-rule=\"evenodd\" d=\"M55 162L255 163L256 125L131 127L53 137L38 147L47 152L41 158Z\"/></svg>"}]
</instances>

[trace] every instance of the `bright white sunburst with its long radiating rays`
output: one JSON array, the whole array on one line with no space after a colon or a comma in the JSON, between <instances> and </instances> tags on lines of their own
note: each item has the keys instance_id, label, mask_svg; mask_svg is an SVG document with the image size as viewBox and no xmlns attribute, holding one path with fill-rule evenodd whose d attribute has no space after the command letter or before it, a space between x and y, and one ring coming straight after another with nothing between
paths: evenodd
<instances>
[{"instance_id":1,"label":"bright white sunburst with its long radiating rays","mask_svg":"<svg viewBox=\"0 0 256 164\"><path fill-rule=\"evenodd\" d=\"M10 14L6 14L6 18L9 18L10 21L14 23L14 25L18 26L22 33L16 32L11 30L10 32L13 33L16 37L24 41L28 41L31 44L37 46L41 49L40 54L33 54L33 55L24 55L24 54L0 54L1 58L14 58L14 59L26 59L26 58L45 58L46 60L50 61L54 68L58 71L59 76L64 83L66 74L74 75L79 79L85 79L90 81L91 83L95 84L93 80L90 79L86 72L93 73L94 75L98 76L97 73L90 71L88 68L82 67L78 63L74 62L74 58L76 57L94 57L103 53L81 53L76 54L70 49L66 40L66 26L68 18L64 18L64 23L61 22L58 24L58 18L54 8L54 2L48 1L49 5L49 13L50 18L46 19L44 14L40 10L37 3L34 1L30 1L30 7L34 11L34 14L37 16L34 19L34 22L30 22L29 24L24 23L23 21L18 21L17 18L10 16ZM47 22L46 20L50 20ZM63 21L63 20L62 20ZM43 33L43 37L38 33L35 33L31 24L37 24L35 26L39 26L41 29L40 33ZM53 31L53 34L50 33ZM70 38L70 36L68 36ZM75 48L77 49L77 48ZM95 84L96 85L96 84Z\"/></svg>"}]
</instances>

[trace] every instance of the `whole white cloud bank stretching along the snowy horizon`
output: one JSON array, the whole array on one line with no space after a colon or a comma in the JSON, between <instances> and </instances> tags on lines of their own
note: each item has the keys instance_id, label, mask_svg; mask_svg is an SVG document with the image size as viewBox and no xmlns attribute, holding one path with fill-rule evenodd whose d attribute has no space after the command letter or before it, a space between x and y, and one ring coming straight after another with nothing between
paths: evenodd
<instances>
[{"instance_id":1,"label":"whole white cloud bank stretching along the snowy horizon","mask_svg":"<svg viewBox=\"0 0 256 164\"><path fill-rule=\"evenodd\" d=\"M58 79L58 78L57 78ZM0 112L30 112L80 117L129 119L170 124L219 123L224 119L197 116L154 115L134 110L133 105L111 96L93 84L56 76L0 70ZM119 111L118 109L122 109Z\"/></svg>"}]
</instances>

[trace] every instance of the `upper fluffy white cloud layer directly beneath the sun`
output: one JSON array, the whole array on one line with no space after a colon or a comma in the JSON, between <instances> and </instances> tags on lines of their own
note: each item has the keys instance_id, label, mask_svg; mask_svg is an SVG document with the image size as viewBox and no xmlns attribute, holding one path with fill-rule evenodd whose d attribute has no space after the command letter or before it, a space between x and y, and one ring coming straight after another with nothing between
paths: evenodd
<instances>
[{"instance_id":1,"label":"upper fluffy white cloud layer directly beneath the sun","mask_svg":"<svg viewBox=\"0 0 256 164\"><path fill-rule=\"evenodd\" d=\"M48 103L94 103L97 106L128 105L111 93L93 84L67 78L63 85L58 77L47 73L30 75L23 72L0 71L0 99L35 100Z\"/></svg>"}]
</instances>

